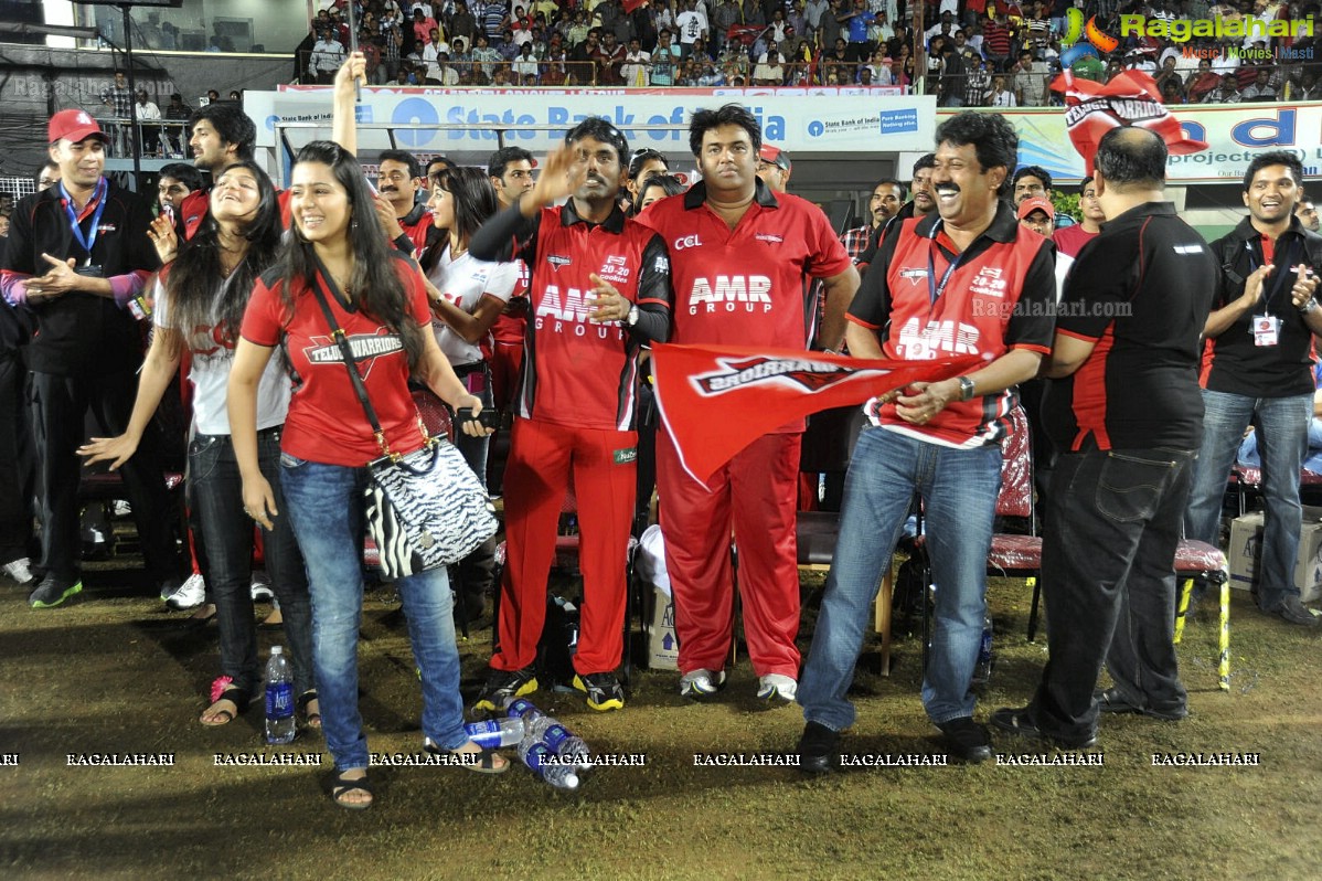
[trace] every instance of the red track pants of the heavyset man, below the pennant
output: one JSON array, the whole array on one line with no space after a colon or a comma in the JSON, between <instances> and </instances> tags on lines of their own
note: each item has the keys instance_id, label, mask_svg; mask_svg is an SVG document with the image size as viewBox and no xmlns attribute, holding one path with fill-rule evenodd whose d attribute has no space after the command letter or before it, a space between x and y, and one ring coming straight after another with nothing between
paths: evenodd
<instances>
[{"instance_id":1,"label":"red track pants of the heavyset man, below the pennant","mask_svg":"<svg viewBox=\"0 0 1322 881\"><path fill-rule=\"evenodd\" d=\"M709 491L685 472L669 434L660 433L657 491L681 673L724 669L730 657L734 528L754 672L798 677L795 501L800 441L798 434L759 438L711 475Z\"/></svg>"}]
</instances>

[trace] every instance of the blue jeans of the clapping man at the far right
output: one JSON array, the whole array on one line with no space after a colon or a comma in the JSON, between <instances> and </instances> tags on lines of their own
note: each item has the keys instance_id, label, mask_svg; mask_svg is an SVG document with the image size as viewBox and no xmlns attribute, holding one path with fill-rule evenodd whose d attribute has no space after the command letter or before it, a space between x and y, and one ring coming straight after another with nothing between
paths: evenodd
<instances>
[{"instance_id":1,"label":"blue jeans of the clapping man at the far right","mask_svg":"<svg viewBox=\"0 0 1322 881\"><path fill-rule=\"evenodd\" d=\"M1185 512L1188 538L1216 544L1225 480L1244 430L1257 426L1263 456L1263 497L1266 524L1263 533L1263 564L1257 602L1277 608L1286 597L1298 597L1294 564L1300 553L1300 468L1309 443L1313 396L1251 398L1243 394L1203 390L1203 446L1194 468L1194 488Z\"/></svg>"}]
</instances>

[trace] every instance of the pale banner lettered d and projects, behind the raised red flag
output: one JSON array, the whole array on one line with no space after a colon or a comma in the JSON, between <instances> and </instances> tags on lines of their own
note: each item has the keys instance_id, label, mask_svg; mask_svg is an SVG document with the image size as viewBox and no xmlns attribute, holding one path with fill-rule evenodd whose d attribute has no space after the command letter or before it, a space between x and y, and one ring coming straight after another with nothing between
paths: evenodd
<instances>
[{"instance_id":1,"label":"pale banner lettered d and projects, behind the raised red flag","mask_svg":"<svg viewBox=\"0 0 1322 881\"><path fill-rule=\"evenodd\" d=\"M1173 183L1239 181L1253 156L1269 149L1297 155L1310 177L1322 169L1322 103L1175 105L1167 110L1187 138L1207 142L1207 149L1166 161ZM937 112L937 124L947 112ZM1064 181L1083 177L1083 157L1069 143L1063 108L1025 110L1005 118L1019 134L1021 165L1040 165Z\"/></svg>"}]
</instances>

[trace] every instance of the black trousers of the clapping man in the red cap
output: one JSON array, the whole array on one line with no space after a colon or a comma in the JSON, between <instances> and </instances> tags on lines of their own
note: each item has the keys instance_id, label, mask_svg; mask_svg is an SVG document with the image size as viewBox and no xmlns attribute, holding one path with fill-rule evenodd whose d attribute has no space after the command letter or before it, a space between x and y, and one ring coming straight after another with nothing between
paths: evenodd
<instances>
[{"instance_id":1,"label":"black trousers of the clapping man in the red cap","mask_svg":"<svg viewBox=\"0 0 1322 881\"><path fill-rule=\"evenodd\" d=\"M137 378L132 373L86 376L32 374L32 398L41 493L41 567L48 575L74 579L79 573L82 540L78 534L78 482L82 462L83 415L107 438L128 427ZM160 443L148 431L137 452L120 467L124 489L134 505L134 521L143 545L147 573L156 586L180 575Z\"/></svg>"}]
</instances>

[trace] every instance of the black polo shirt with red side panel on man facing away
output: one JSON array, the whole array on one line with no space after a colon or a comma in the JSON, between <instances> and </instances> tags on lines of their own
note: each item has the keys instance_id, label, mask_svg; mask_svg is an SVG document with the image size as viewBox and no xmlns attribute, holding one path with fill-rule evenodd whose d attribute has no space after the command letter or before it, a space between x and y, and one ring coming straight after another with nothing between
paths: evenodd
<instances>
[{"instance_id":1,"label":"black polo shirt with red side panel on man facing away","mask_svg":"<svg viewBox=\"0 0 1322 881\"><path fill-rule=\"evenodd\" d=\"M1199 339L1215 287L1211 249L1170 202L1132 208L1083 246L1056 333L1096 345L1047 384L1042 421L1058 450L1199 446Z\"/></svg>"}]
</instances>

